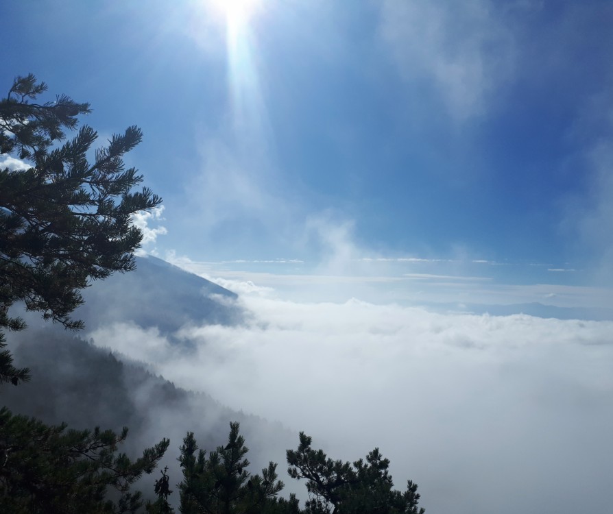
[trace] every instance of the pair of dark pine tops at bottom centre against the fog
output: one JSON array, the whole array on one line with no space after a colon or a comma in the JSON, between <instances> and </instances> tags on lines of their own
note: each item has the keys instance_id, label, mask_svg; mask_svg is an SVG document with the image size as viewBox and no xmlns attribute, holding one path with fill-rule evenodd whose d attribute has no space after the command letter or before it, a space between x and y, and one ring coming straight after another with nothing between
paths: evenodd
<instances>
[{"instance_id":1,"label":"pair of dark pine tops at bottom centre against the fog","mask_svg":"<svg viewBox=\"0 0 613 514\"><path fill-rule=\"evenodd\" d=\"M295 495L278 498L283 482L277 480L276 464L262 475L250 475L245 441L239 424L230 424L228 444L208 458L199 450L193 432L183 440L179 462L182 514L424 514L420 495L411 480L402 493L392 489L389 460L375 448L351 465L333 461L322 450L311 448L311 437L300 432L298 450L287 450L291 478L306 479L309 500L304 509Z\"/></svg>"}]
</instances>

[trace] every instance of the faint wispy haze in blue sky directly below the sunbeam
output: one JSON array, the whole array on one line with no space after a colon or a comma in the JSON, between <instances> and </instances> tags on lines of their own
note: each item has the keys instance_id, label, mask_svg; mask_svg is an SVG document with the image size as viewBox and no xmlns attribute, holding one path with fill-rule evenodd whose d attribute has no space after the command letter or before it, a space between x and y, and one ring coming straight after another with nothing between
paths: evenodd
<instances>
[{"instance_id":1,"label":"faint wispy haze in blue sky directly below the sunbeam","mask_svg":"<svg viewBox=\"0 0 613 514\"><path fill-rule=\"evenodd\" d=\"M202 245L198 253L215 254L215 249L239 242L242 248L291 252L302 205L267 151L257 141L237 143L223 129L217 136L200 136L198 172L184 184L182 204L173 204L176 219L197 234L194 241Z\"/></svg>"}]
</instances>

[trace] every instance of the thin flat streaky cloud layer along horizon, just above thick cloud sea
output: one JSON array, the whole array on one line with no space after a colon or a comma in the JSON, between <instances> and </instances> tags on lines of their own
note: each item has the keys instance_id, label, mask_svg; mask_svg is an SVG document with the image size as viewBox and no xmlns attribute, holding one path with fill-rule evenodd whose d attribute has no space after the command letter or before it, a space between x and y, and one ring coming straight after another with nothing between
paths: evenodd
<instances>
[{"instance_id":1,"label":"thin flat streaky cloud layer along horizon, just above thick cloud sea","mask_svg":"<svg viewBox=\"0 0 613 514\"><path fill-rule=\"evenodd\" d=\"M485 308L544 303L557 308L581 308L587 315L587 309L608 308L612 295L604 287L546 281L508 284L490 276L446 273L453 269L438 266L429 272L407 271L406 265L398 268L392 263L392 267L389 262L368 269L377 263L350 261L333 272L325 263L306 269L300 265L296 265L298 269L262 269L261 265L197 262L173 254L167 255L167 260L231 291L296 302L346 302L357 298L374 304L431 308L437 304L480 304ZM543 280L548 276L546 270L544 273ZM550 272L549 276L552 274L555 275Z\"/></svg>"}]
</instances>

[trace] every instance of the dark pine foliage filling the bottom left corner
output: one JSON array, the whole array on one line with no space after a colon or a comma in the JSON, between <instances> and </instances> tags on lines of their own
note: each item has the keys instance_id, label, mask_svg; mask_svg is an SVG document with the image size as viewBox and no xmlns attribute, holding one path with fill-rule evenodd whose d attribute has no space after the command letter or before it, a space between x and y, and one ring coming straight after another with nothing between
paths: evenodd
<instances>
[{"instance_id":1,"label":"dark pine foliage filling the bottom left corner","mask_svg":"<svg viewBox=\"0 0 613 514\"><path fill-rule=\"evenodd\" d=\"M132 461L117 451L128 429L67 430L0 408L0 512L134 513L143 505L130 487L167 450L163 439ZM119 499L108 499L110 489Z\"/></svg>"}]
</instances>

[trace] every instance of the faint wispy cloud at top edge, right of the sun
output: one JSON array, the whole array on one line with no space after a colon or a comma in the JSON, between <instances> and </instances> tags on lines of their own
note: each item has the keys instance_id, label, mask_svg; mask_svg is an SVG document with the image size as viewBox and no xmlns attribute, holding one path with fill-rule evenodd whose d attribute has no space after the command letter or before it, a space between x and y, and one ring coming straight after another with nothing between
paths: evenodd
<instances>
[{"instance_id":1,"label":"faint wispy cloud at top edge, right of the sun","mask_svg":"<svg viewBox=\"0 0 613 514\"><path fill-rule=\"evenodd\" d=\"M381 37L398 71L433 82L457 121L483 114L514 73L514 36L495 8L489 0L381 5Z\"/></svg>"}]
</instances>

